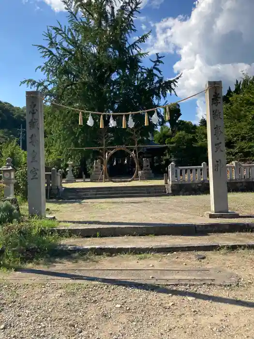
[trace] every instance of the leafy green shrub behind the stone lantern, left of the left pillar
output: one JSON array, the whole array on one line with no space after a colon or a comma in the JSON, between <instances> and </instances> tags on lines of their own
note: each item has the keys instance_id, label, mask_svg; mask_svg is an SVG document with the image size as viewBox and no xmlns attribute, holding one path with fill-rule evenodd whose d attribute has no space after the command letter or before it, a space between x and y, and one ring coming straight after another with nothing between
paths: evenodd
<instances>
[{"instance_id":1,"label":"leafy green shrub behind the stone lantern, left of the left pillar","mask_svg":"<svg viewBox=\"0 0 254 339\"><path fill-rule=\"evenodd\" d=\"M15 194L27 198L27 152L20 149L16 140L7 141L1 147L1 166L5 166L8 157L13 159L12 164L16 170Z\"/></svg>"}]
</instances>

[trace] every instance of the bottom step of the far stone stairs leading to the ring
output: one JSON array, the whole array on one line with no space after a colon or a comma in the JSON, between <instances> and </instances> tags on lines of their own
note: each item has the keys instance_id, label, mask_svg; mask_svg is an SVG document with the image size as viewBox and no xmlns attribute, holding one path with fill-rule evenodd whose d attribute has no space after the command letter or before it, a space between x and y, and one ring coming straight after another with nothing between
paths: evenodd
<instances>
[{"instance_id":1,"label":"bottom step of the far stone stairs leading to the ring","mask_svg":"<svg viewBox=\"0 0 254 339\"><path fill-rule=\"evenodd\" d=\"M167 196L166 192L164 193L125 193L123 194L112 194L104 193L101 195L85 195L85 194L63 194L63 200L87 200L87 199L124 199L124 198L149 198L149 197L164 197Z\"/></svg>"}]
</instances>

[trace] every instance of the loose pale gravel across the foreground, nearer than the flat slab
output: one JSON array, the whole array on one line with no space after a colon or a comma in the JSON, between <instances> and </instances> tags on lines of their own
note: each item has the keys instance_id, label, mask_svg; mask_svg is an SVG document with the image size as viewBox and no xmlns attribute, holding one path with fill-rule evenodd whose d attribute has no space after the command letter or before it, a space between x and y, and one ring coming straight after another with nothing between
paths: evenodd
<instances>
[{"instance_id":1,"label":"loose pale gravel across the foreground, nearer than the flat slab","mask_svg":"<svg viewBox=\"0 0 254 339\"><path fill-rule=\"evenodd\" d=\"M205 300L178 295L179 290ZM5 284L0 338L254 338L253 309L228 304L234 298L253 300L253 288L197 286L167 292L99 284ZM226 299L218 303L212 296Z\"/></svg>"}]
</instances>

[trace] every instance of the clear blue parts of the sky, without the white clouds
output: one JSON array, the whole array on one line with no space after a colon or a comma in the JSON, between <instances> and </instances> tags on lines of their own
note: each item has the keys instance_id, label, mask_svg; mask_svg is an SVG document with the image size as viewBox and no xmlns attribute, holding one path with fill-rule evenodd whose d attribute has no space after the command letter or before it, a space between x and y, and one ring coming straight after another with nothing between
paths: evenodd
<instances>
[{"instance_id":1,"label":"clear blue parts of the sky, without the white clouds","mask_svg":"<svg viewBox=\"0 0 254 339\"><path fill-rule=\"evenodd\" d=\"M171 1L170 1L171 2ZM146 20L158 22L165 13L172 16L190 14L193 7L192 0L164 1L159 8L145 6L140 16ZM11 5L12 3L12 5ZM13 18L15 18L13 20ZM37 48L32 44L43 44L43 31L47 25L54 25L56 20L67 23L65 12L55 12L43 1L24 2L22 0L1 0L0 4L0 100L10 102L14 106L25 106L26 86L19 87L24 78L40 78L40 72L35 68L43 60ZM140 34L144 32L141 25L143 20L136 20ZM148 30L150 27L147 28ZM151 56L152 57L152 56ZM177 61L177 55L167 54L164 58L164 77L174 77L172 65ZM175 96L169 98L175 100ZM193 104L193 105L192 105ZM192 119L195 115L195 103L181 105L183 117ZM193 114L192 114L193 110Z\"/></svg>"}]
</instances>

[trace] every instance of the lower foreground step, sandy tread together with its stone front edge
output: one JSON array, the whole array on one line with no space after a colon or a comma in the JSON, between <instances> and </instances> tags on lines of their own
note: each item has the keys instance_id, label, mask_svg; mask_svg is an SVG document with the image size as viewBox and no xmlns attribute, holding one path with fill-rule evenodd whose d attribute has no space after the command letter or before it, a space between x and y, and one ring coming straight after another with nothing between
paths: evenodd
<instances>
[{"instance_id":1,"label":"lower foreground step, sandy tread together with its stone front edge","mask_svg":"<svg viewBox=\"0 0 254 339\"><path fill-rule=\"evenodd\" d=\"M60 249L69 253L140 254L178 251L212 251L221 248L254 248L254 234L213 233L206 236L140 236L111 238L70 238L61 242Z\"/></svg>"}]
</instances>

